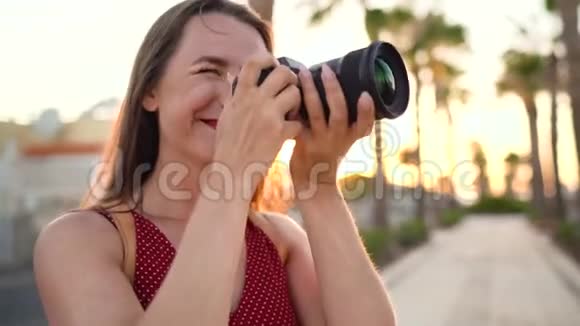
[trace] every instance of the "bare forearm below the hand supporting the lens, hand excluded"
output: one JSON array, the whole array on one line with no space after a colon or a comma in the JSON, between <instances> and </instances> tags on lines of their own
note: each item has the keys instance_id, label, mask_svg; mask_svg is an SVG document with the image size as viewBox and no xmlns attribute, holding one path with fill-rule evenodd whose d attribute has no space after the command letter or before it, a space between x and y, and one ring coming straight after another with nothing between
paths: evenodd
<instances>
[{"instance_id":1,"label":"bare forearm below the hand supporting the lens, hand excluded","mask_svg":"<svg viewBox=\"0 0 580 326\"><path fill-rule=\"evenodd\" d=\"M369 259L340 190L320 185L299 200L329 326L394 326L383 281Z\"/></svg>"}]
</instances>

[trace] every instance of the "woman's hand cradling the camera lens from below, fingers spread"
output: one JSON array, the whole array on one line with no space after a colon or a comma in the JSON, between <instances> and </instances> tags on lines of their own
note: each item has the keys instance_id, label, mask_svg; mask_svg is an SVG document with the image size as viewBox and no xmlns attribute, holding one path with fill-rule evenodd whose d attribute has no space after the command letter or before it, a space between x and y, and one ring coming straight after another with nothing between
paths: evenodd
<instances>
[{"instance_id":1,"label":"woman's hand cradling the camera lens from below, fingers spread","mask_svg":"<svg viewBox=\"0 0 580 326\"><path fill-rule=\"evenodd\" d=\"M364 92L358 100L357 120L349 127L347 104L341 86L334 72L323 65L322 81L330 109L326 123L310 72L303 69L299 77L310 128L302 129L296 137L290 159L290 173L298 196L302 191L316 192L322 185L336 187L340 161L357 139L370 134L375 120L373 100Z\"/></svg>"}]
</instances>

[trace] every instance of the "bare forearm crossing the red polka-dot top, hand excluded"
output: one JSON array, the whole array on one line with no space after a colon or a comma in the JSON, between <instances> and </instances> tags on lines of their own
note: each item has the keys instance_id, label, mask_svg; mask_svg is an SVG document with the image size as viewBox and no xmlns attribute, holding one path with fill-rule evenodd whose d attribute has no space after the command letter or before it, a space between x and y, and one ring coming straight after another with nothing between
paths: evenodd
<instances>
[{"instance_id":1,"label":"bare forearm crossing the red polka-dot top, hand excluded","mask_svg":"<svg viewBox=\"0 0 580 326\"><path fill-rule=\"evenodd\" d=\"M167 278L140 326L228 324L250 206L241 189L234 194L240 195L199 197Z\"/></svg>"}]
</instances>

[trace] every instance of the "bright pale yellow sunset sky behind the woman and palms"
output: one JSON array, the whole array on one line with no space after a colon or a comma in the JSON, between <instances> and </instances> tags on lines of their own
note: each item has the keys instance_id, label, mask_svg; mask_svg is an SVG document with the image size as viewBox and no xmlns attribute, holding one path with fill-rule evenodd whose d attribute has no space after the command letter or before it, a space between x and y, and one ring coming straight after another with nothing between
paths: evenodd
<instances>
[{"instance_id":1,"label":"bright pale yellow sunset sky behind the woman and palms","mask_svg":"<svg viewBox=\"0 0 580 326\"><path fill-rule=\"evenodd\" d=\"M122 97L137 48L153 21L177 1L137 0L3 0L0 2L0 120L28 122L45 108L59 109L64 120L74 120L101 99ZM243 1L238 1L243 2ZM307 23L310 9L302 0L277 1L274 13L276 55L314 64L368 45L363 12L358 1L344 0L323 24ZM398 1L399 3L405 1ZM406 1L409 2L409 1ZM369 1L390 6L397 1ZM420 1L425 10L436 6L454 22L468 27L472 54L457 61L467 71L463 80L473 97L455 105L456 160L469 159L469 144L482 143L488 155L492 188L503 188L503 157L510 151L529 151L528 125L522 104L513 96L498 98L494 81L501 72L500 56L512 46L542 47L553 25L541 16L543 0L433 0ZM533 27L537 40L523 42L512 20ZM396 44L395 44L396 46ZM422 126L424 158L447 169L445 119L432 109L432 93L424 92ZM562 181L575 187L576 155L569 104L560 99L559 150ZM549 98L540 94L539 128L542 160L550 170ZM389 121L391 149L413 146L414 104ZM365 147L366 146L366 147ZM282 157L289 155L289 147ZM368 140L355 145L342 172L372 170ZM367 148L365 150L365 148ZM392 150L392 152L396 152ZM394 163L395 155L388 158ZM397 173L403 168L395 169ZM405 170L406 171L406 170ZM526 171L523 171L524 174ZM402 173L402 172L401 172Z\"/></svg>"}]
</instances>

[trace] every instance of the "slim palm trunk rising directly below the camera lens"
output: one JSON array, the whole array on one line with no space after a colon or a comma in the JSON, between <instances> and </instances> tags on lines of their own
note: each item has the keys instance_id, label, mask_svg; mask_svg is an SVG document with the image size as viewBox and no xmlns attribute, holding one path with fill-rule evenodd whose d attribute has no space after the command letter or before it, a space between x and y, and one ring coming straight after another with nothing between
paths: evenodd
<instances>
[{"instance_id":1,"label":"slim palm trunk rising directly below the camera lens","mask_svg":"<svg viewBox=\"0 0 580 326\"><path fill-rule=\"evenodd\" d=\"M389 227L388 211L388 185L384 176L383 142L382 142L381 121L375 121L375 156L377 160L377 172L375 173L375 193L374 193L374 224L378 228ZM380 187L380 188L379 188Z\"/></svg>"}]
</instances>

